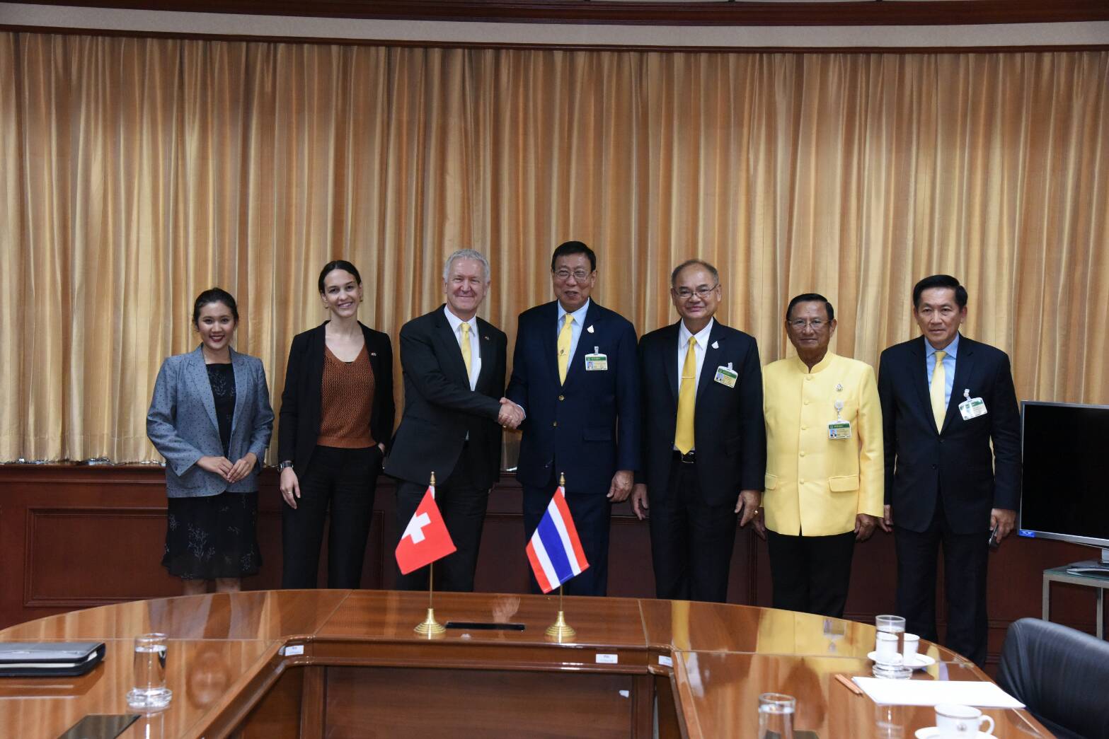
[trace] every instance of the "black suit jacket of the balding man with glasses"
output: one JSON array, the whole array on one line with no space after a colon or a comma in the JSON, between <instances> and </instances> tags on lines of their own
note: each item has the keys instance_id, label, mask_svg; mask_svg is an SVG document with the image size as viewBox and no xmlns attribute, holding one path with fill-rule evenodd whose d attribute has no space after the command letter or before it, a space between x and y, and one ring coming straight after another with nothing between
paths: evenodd
<instances>
[{"instance_id":1,"label":"black suit jacket of the balding man with glasses","mask_svg":"<svg viewBox=\"0 0 1109 739\"><path fill-rule=\"evenodd\" d=\"M678 425L679 324L639 342L643 396L643 473L649 499L669 495ZM734 388L715 382L716 368L732 363ZM701 494L712 505L735 503L741 490L762 490L766 480L766 424L762 369L753 337L715 321L696 386L693 433Z\"/></svg>"}]
</instances>

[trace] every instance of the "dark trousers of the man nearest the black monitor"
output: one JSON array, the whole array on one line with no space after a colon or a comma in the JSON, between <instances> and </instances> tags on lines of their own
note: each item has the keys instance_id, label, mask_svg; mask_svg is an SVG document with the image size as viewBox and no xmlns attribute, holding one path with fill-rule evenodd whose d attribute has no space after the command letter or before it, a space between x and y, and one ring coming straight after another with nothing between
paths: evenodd
<instances>
[{"instance_id":1,"label":"dark trousers of the man nearest the black monitor","mask_svg":"<svg viewBox=\"0 0 1109 739\"><path fill-rule=\"evenodd\" d=\"M940 545L944 550L944 594L947 598L945 646L986 664L986 567L989 563L989 532L953 534L943 504L927 531L896 525L897 613L905 616L905 629L922 639L938 640L936 629L936 568Z\"/></svg>"}]
</instances>

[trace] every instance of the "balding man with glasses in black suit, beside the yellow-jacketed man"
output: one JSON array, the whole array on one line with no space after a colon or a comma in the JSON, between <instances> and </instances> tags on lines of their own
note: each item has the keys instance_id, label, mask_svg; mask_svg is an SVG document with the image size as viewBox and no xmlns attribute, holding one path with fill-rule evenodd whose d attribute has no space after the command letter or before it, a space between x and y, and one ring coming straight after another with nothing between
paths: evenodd
<instances>
[{"instance_id":1,"label":"balding man with glasses in black suit, beside the yellow-jacketed man","mask_svg":"<svg viewBox=\"0 0 1109 739\"><path fill-rule=\"evenodd\" d=\"M684 261L670 286L681 320L639 345L643 472L632 510L650 514L659 597L724 603L735 516L755 520L766 470L759 347L713 318L715 267Z\"/></svg>"}]
</instances>

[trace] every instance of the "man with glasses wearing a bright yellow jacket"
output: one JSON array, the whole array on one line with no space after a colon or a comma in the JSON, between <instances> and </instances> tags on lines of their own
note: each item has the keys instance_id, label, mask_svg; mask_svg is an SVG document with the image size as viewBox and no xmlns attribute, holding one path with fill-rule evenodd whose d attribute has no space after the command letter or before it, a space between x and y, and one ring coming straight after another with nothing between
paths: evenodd
<instances>
[{"instance_id":1,"label":"man with glasses wearing a bright yellow jacket","mask_svg":"<svg viewBox=\"0 0 1109 739\"><path fill-rule=\"evenodd\" d=\"M874 369L828 351L835 310L822 295L790 300L797 351L763 370L773 605L843 617L855 542L882 519L882 406Z\"/></svg>"}]
</instances>

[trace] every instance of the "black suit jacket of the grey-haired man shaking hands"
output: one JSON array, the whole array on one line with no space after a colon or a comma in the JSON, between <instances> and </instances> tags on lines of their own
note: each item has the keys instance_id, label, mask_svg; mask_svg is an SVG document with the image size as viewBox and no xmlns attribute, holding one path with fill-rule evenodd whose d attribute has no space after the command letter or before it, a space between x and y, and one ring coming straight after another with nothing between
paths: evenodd
<instances>
[{"instance_id":1,"label":"black suit jacket of the grey-haired man shaking hands","mask_svg":"<svg viewBox=\"0 0 1109 739\"><path fill-rule=\"evenodd\" d=\"M458 339L444 306L400 328L400 368L405 376L405 412L385 460L385 473L426 484L431 473L446 482L462 452L466 434L475 459L478 487L492 487L500 476L501 429L497 423L505 394L508 338L477 319L481 370L470 390ZM475 449L476 448L476 449Z\"/></svg>"}]
</instances>

